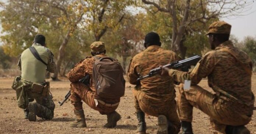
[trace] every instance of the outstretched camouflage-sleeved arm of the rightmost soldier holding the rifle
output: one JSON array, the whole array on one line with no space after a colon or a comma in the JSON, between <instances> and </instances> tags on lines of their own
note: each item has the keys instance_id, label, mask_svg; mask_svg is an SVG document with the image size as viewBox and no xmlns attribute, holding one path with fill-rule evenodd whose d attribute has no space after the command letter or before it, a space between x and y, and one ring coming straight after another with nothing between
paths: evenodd
<instances>
[{"instance_id":1,"label":"outstretched camouflage-sleeved arm of the rightmost soldier holding the rifle","mask_svg":"<svg viewBox=\"0 0 256 134\"><path fill-rule=\"evenodd\" d=\"M191 80L191 84L196 85L202 78L207 77L212 72L215 65L216 61L214 56L211 53L207 53L191 71L182 72L170 69L169 76L173 77L177 82L184 83L184 80Z\"/></svg>"}]
</instances>

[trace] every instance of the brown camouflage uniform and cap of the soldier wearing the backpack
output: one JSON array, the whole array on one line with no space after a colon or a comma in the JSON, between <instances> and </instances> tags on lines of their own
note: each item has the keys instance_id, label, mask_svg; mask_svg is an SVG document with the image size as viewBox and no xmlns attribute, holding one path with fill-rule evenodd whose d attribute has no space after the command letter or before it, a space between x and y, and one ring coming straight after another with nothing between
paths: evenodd
<instances>
[{"instance_id":1,"label":"brown camouflage uniform and cap of the soldier wearing the backpack","mask_svg":"<svg viewBox=\"0 0 256 134\"><path fill-rule=\"evenodd\" d=\"M102 52L105 50L104 44L101 45L102 42L97 41L93 43L90 47L92 52ZM96 57L105 57L105 54L102 52ZM90 86L86 86L83 83L78 82L79 79L89 74L92 78L92 68L95 59L93 57L87 57L80 61L75 67L70 70L68 73L68 79L70 82L70 91L71 91L71 103L75 106L75 110L82 109L83 100L90 108L95 109L100 112L102 115L106 115L107 113L114 112L117 109L118 104L120 102L120 98L118 99L102 99L98 95L95 94L96 90L94 88L94 82L90 80Z\"/></svg>"}]
</instances>

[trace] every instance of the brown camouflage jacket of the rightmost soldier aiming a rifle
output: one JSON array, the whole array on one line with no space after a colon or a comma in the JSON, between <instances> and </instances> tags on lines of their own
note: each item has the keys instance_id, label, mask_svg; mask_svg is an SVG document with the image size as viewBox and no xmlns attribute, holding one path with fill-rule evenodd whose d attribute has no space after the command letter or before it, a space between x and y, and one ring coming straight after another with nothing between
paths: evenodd
<instances>
[{"instance_id":1,"label":"brown camouflage jacket of the rightmost soldier aiming a rifle","mask_svg":"<svg viewBox=\"0 0 256 134\"><path fill-rule=\"evenodd\" d=\"M222 51L223 48L231 50L238 59L229 52ZM181 83L184 83L184 80L191 80L192 85L208 77L208 84L216 93L252 107L254 95L251 90L251 75L243 69L238 60L252 69L248 55L234 47L231 41L226 41L215 50L207 52L190 72L170 69L169 75Z\"/></svg>"}]
</instances>

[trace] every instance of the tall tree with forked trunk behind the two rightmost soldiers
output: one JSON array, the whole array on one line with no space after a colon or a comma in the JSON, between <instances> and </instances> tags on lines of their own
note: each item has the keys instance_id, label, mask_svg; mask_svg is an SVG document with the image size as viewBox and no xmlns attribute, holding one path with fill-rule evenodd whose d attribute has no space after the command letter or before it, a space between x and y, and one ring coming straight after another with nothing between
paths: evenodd
<instances>
[{"instance_id":1,"label":"tall tree with forked trunk behind the two rightmost soldiers","mask_svg":"<svg viewBox=\"0 0 256 134\"><path fill-rule=\"evenodd\" d=\"M243 9L252 3L252 1L246 0L142 0L142 2L154 6L157 9L155 12L169 14L172 37L171 45L168 48L172 48L182 58L185 57L187 50L183 42L188 30L199 32L197 29L205 26L212 19L241 15ZM194 29L195 25L198 28Z\"/></svg>"}]
</instances>

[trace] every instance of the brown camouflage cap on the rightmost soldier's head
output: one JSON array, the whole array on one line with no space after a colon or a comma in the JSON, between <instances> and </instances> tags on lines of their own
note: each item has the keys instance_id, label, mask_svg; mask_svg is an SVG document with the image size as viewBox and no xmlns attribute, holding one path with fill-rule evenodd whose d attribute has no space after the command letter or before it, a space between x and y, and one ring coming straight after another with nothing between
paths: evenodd
<instances>
[{"instance_id":1,"label":"brown camouflage cap on the rightmost soldier's head","mask_svg":"<svg viewBox=\"0 0 256 134\"><path fill-rule=\"evenodd\" d=\"M230 34L231 25L224 21L216 21L213 22L209 26L209 32L205 35L208 35L209 33L220 33L220 34Z\"/></svg>"}]
</instances>

